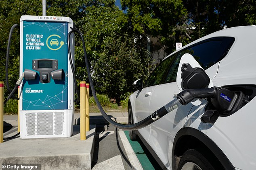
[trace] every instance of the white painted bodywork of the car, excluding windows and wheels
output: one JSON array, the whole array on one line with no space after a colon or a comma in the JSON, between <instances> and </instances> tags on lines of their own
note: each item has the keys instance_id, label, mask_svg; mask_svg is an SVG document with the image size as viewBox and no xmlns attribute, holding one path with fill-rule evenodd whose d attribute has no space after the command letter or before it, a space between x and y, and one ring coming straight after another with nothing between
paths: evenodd
<instances>
[{"instance_id":1,"label":"white painted bodywork of the car, excluding windows and wheels","mask_svg":"<svg viewBox=\"0 0 256 170\"><path fill-rule=\"evenodd\" d=\"M200 41L211 37L234 37L235 41L227 55L206 70L212 79L213 86L226 86L238 84L256 84L256 27L243 26L217 31L198 39L179 52ZM173 55L174 53L170 54ZM170 56L169 55L169 56ZM170 102L175 93L180 92L176 82L160 84L151 88L151 95L136 96L138 91L130 96L134 123L141 121L149 114ZM144 95L148 88L143 88ZM137 103L140 101L140 103ZM142 102L143 101L143 102ZM181 106L162 119L148 127L138 130L167 169L172 169L172 147L176 133L183 127L191 127L207 135L230 160L237 170L256 169L256 98L227 117L219 117L212 125L202 123L200 118L208 103L202 99L200 106ZM192 108L192 109L191 109Z\"/></svg>"}]
</instances>

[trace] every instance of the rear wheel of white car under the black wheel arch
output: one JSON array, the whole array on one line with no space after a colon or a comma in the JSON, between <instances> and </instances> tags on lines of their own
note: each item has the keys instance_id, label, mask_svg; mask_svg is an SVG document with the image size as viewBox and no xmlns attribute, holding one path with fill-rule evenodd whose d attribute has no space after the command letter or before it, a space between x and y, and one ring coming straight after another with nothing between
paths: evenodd
<instances>
[{"instance_id":1,"label":"rear wheel of white car under the black wheel arch","mask_svg":"<svg viewBox=\"0 0 256 170\"><path fill-rule=\"evenodd\" d=\"M215 170L212 164L197 150L187 150L180 159L178 170Z\"/></svg>"}]
</instances>

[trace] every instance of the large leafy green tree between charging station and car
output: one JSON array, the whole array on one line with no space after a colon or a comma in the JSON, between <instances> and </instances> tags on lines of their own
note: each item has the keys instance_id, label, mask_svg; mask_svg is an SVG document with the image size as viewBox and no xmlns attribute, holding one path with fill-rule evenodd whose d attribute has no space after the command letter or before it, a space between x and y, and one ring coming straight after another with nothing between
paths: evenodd
<instances>
[{"instance_id":1,"label":"large leafy green tree between charging station and car","mask_svg":"<svg viewBox=\"0 0 256 170\"><path fill-rule=\"evenodd\" d=\"M134 43L126 15L114 1L104 2L86 7L82 18L86 24L80 29L86 39L96 90L119 102L127 92L132 92L134 80L148 74L151 57L140 41ZM84 77L83 69L79 75Z\"/></svg>"}]
</instances>

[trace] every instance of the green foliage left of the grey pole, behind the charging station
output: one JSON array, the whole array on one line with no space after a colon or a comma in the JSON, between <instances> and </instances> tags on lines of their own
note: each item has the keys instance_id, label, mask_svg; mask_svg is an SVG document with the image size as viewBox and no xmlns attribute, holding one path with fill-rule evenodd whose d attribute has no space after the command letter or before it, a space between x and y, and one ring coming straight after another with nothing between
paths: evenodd
<instances>
[{"instance_id":1,"label":"green foliage left of the grey pole, behind the charging station","mask_svg":"<svg viewBox=\"0 0 256 170\"><path fill-rule=\"evenodd\" d=\"M19 24L19 18L23 14L27 15L42 15L40 9L42 4L38 1L17 1L17 0L2 0L0 3L0 69L2 73L5 73L5 59L6 48L8 42L8 35L10 28L14 24ZM39 8L40 7L40 8ZM9 85L10 88L15 86L17 79L19 78L19 29L15 29L13 37L11 39L10 59L9 59ZM1 74L1 81L5 80L5 74ZM4 88L4 96L7 97L9 92Z\"/></svg>"}]
</instances>

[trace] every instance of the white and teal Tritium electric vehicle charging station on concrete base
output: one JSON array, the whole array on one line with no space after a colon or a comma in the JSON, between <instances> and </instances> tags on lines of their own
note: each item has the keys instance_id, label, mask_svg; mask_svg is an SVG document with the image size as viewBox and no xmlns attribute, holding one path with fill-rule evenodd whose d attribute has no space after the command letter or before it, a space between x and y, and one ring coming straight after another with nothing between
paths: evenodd
<instances>
[{"instance_id":1,"label":"white and teal Tritium electric vehicle charging station on concrete base","mask_svg":"<svg viewBox=\"0 0 256 170\"><path fill-rule=\"evenodd\" d=\"M20 18L21 139L70 137L73 133L74 82L68 33L73 20L62 16ZM70 37L74 63L74 39Z\"/></svg>"}]
</instances>

